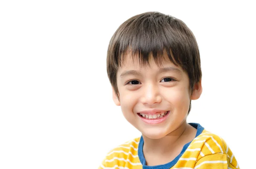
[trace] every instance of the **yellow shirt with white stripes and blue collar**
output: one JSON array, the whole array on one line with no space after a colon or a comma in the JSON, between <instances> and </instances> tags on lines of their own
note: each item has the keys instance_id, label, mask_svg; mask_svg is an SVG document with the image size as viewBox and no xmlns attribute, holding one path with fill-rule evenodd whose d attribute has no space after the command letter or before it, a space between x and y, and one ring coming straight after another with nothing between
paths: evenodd
<instances>
[{"instance_id":1,"label":"yellow shirt with white stripes and blue collar","mask_svg":"<svg viewBox=\"0 0 256 169\"><path fill-rule=\"evenodd\" d=\"M135 138L108 153L99 169L239 169L239 165L225 141L207 132L198 123L196 137L183 146L180 155L169 163L146 166L143 137Z\"/></svg>"}]
</instances>

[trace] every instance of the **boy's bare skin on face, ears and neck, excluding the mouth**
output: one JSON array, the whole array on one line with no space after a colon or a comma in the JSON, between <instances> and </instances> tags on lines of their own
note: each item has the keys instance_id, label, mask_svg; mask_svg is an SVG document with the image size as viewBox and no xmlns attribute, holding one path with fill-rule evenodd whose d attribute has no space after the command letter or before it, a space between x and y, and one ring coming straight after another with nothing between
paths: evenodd
<instances>
[{"instance_id":1,"label":"boy's bare skin on face, ears and neck, excluding the mouth","mask_svg":"<svg viewBox=\"0 0 256 169\"><path fill-rule=\"evenodd\" d=\"M161 71L163 68L171 68ZM121 76L122 74L122 76ZM125 56L117 72L119 99L113 90L113 101L121 106L126 120L143 135L143 153L148 166L165 164L179 155L183 146L195 138L196 129L186 122L189 102L202 93L201 80L189 89L189 77L175 66L167 55L160 67L151 57L149 66L141 68L139 60ZM170 111L165 121L148 124L138 112L152 109Z\"/></svg>"}]
</instances>

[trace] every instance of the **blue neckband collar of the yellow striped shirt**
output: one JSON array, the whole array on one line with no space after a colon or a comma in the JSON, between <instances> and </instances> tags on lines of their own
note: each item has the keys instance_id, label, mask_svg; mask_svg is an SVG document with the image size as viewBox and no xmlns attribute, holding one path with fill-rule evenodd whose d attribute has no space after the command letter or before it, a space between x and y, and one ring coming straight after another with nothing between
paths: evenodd
<instances>
[{"instance_id":1,"label":"blue neckband collar of the yellow striped shirt","mask_svg":"<svg viewBox=\"0 0 256 169\"><path fill-rule=\"evenodd\" d=\"M202 127L200 124L198 123L189 123L191 126L193 126L195 129L197 129L196 135L195 137L197 137L198 135L200 135L203 130L204 127ZM192 141L191 141L192 142ZM140 137L140 143L139 143L139 147L138 147L138 156L140 158L140 162L143 165L143 169L170 169L172 166L174 166L177 161L180 159L180 157L183 155L183 153L186 151L186 149L188 148L189 144L191 143L186 143L183 146L183 149L181 150L180 154L171 162L163 164L163 165L158 165L158 166L146 166L146 160L143 154L143 145L144 145L144 140L143 137Z\"/></svg>"}]
</instances>

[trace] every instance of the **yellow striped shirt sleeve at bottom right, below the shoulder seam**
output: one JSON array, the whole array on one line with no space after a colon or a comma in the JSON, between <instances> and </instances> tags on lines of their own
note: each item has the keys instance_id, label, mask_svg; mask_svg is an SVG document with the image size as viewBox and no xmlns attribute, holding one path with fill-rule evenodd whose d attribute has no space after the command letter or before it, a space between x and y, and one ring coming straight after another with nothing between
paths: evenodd
<instances>
[{"instance_id":1,"label":"yellow striped shirt sleeve at bottom right, below the shoulder seam","mask_svg":"<svg viewBox=\"0 0 256 169\"><path fill-rule=\"evenodd\" d=\"M230 169L227 155L216 153L206 155L200 158L196 163L194 169ZM233 168L231 168L233 169Z\"/></svg>"}]
</instances>

